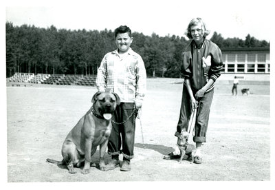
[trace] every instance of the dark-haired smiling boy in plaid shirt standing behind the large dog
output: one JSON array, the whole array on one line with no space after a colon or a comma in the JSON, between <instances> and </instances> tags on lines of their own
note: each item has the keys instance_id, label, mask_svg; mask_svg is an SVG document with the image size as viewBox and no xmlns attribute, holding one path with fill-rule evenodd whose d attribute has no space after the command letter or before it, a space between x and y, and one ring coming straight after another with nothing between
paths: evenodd
<instances>
[{"instance_id":1,"label":"dark-haired smiling boy in plaid shirt standing behind the large dog","mask_svg":"<svg viewBox=\"0 0 275 190\"><path fill-rule=\"evenodd\" d=\"M115 45L118 48L107 53L96 78L100 92L115 92L120 96L120 105L112 116L113 129L108 142L111 161L107 167L119 167L119 154L123 154L120 170L130 171L135 140L135 112L142 107L146 91L146 70L142 57L130 45L133 41L131 30L126 25L115 29ZM133 114L134 113L134 114ZM120 148L122 147L122 150Z\"/></svg>"}]
</instances>

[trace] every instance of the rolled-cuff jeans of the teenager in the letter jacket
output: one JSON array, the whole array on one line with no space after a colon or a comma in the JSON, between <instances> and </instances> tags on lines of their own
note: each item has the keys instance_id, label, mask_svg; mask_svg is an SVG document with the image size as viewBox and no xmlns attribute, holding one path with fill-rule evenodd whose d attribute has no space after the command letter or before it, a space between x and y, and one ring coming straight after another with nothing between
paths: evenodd
<instances>
[{"instance_id":1,"label":"rolled-cuff jeans of the teenager in the letter jacket","mask_svg":"<svg viewBox=\"0 0 275 190\"><path fill-rule=\"evenodd\" d=\"M208 119L210 114L210 107L214 89L204 94L199 100L199 107L197 107L197 116L195 123L195 136L194 142L206 142L206 131L208 128ZM195 94L194 94L195 96ZM181 133L182 129L188 130L188 123L191 115L190 96L187 91L186 85L182 89L181 109L179 114L179 122L177 123L177 132Z\"/></svg>"}]
</instances>

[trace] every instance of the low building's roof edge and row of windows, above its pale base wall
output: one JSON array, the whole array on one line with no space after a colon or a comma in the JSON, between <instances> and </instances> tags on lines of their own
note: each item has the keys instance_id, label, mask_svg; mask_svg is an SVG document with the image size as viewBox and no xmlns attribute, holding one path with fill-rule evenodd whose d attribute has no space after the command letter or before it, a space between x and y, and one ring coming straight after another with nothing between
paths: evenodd
<instances>
[{"instance_id":1,"label":"low building's roof edge and row of windows, above its pale base wall","mask_svg":"<svg viewBox=\"0 0 275 190\"><path fill-rule=\"evenodd\" d=\"M223 73L270 74L270 47L221 48Z\"/></svg>"}]
</instances>

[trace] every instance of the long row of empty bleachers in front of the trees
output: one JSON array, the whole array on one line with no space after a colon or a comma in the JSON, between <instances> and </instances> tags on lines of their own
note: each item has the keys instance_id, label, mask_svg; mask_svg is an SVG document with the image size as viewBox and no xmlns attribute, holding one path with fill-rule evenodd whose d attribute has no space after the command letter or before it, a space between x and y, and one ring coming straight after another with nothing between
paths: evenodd
<instances>
[{"instance_id":1,"label":"long row of empty bleachers in front of the trees","mask_svg":"<svg viewBox=\"0 0 275 190\"><path fill-rule=\"evenodd\" d=\"M8 80L14 83L36 83L47 85L82 85L95 86L96 75L83 76L80 74L37 74L15 73Z\"/></svg>"}]
</instances>

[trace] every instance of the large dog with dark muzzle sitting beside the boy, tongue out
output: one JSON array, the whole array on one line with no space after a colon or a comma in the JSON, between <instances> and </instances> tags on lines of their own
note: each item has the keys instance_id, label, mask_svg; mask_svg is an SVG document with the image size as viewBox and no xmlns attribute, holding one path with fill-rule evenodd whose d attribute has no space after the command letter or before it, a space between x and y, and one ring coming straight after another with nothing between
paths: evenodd
<instances>
[{"instance_id":1,"label":"large dog with dark muzzle sitting beside the boy, tongue out","mask_svg":"<svg viewBox=\"0 0 275 190\"><path fill-rule=\"evenodd\" d=\"M85 161L82 173L89 173L91 166L91 156L100 145L99 167L102 171L107 171L104 162L104 153L111 134L111 114L115 107L120 105L120 98L115 93L97 92L91 102L91 109L80 118L76 126L67 135L62 146L62 161L47 159L47 162L57 165L67 165L69 173L76 173L74 166L80 167Z\"/></svg>"}]
</instances>

